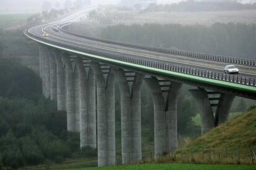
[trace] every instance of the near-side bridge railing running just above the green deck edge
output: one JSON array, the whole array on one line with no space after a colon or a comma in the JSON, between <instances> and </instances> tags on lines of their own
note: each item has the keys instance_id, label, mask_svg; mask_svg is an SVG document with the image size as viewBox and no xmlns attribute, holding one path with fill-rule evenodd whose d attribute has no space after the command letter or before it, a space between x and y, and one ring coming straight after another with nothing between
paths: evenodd
<instances>
[{"instance_id":1,"label":"near-side bridge railing running just above the green deck edge","mask_svg":"<svg viewBox=\"0 0 256 170\"><path fill-rule=\"evenodd\" d=\"M57 46L61 47L67 47L70 49L70 44L65 44L61 41L49 41L49 39L45 39L42 37L35 36L31 33L28 33L27 30L25 30L25 33L31 36L32 38L41 40L43 42L48 42L49 44L54 44ZM110 52L105 52L105 51L99 51L95 49L83 49L81 47L77 46L72 46L72 49L80 52L85 52L87 54L92 54L92 55L98 55L101 57L105 57L107 59L114 59L114 60L119 60L122 62L127 62L127 63L134 63L136 65L142 65L146 67L151 67L151 68L158 68L161 70L168 70L168 71L174 71L177 73L183 73L186 75L193 75L193 76L198 76L202 78L209 78L209 79L216 79L219 81L226 81L229 83L236 83L236 84L244 84L246 86L254 86L256 87L256 80L254 78L248 78L245 76L240 76L240 75L229 75L226 73L220 73L220 72L215 72L215 71L208 71L208 70L203 70L203 69L195 69L192 67L184 67L184 66L179 66L179 65L173 65L169 63L164 63L160 61L155 61L155 60L146 60L146 59L138 59L136 58L135 55L120 55L120 54L113 54Z\"/></svg>"}]
</instances>

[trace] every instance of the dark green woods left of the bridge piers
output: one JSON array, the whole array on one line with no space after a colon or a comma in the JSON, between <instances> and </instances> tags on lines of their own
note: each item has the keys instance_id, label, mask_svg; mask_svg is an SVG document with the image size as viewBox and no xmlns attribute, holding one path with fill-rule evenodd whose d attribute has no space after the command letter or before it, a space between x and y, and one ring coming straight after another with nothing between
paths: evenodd
<instances>
[{"instance_id":1,"label":"dark green woods left of the bridge piers","mask_svg":"<svg viewBox=\"0 0 256 170\"><path fill-rule=\"evenodd\" d=\"M66 111L41 96L32 70L6 59L0 70L0 169L96 156L95 149L80 151L79 134L66 130Z\"/></svg>"}]
</instances>

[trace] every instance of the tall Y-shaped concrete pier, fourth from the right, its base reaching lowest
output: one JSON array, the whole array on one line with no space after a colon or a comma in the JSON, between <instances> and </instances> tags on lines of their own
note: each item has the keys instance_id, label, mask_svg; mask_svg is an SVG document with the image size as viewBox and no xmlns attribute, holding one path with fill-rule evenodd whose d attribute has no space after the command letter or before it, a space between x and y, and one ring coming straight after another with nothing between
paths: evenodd
<instances>
[{"instance_id":1,"label":"tall Y-shaped concrete pier, fourth from the right, its base reaching lowest","mask_svg":"<svg viewBox=\"0 0 256 170\"><path fill-rule=\"evenodd\" d=\"M114 75L109 70L105 81L99 63L91 67L96 78L98 121L98 166L116 164Z\"/></svg>"}]
</instances>

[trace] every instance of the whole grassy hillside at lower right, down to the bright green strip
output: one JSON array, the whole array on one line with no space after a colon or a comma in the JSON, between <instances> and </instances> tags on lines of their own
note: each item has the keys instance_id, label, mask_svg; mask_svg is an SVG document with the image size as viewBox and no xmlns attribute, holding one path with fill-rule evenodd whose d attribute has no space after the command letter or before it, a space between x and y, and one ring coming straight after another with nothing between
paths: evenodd
<instances>
[{"instance_id":1,"label":"whole grassy hillside at lower right, down to the bright green strip","mask_svg":"<svg viewBox=\"0 0 256 170\"><path fill-rule=\"evenodd\" d=\"M192 140L177 150L187 161L204 159L211 162L213 158L220 162L252 160L252 150L256 152L256 109L229 119L226 123L212 129L207 134ZM216 161L216 160L215 160Z\"/></svg>"}]
</instances>

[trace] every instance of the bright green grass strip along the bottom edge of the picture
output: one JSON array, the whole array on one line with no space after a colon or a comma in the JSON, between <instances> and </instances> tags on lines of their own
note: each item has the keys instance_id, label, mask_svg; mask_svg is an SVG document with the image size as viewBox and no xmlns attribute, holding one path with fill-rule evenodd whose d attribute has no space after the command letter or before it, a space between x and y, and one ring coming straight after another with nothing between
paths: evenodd
<instances>
[{"instance_id":1,"label":"bright green grass strip along the bottom edge of the picture","mask_svg":"<svg viewBox=\"0 0 256 170\"><path fill-rule=\"evenodd\" d=\"M82 170L83 168L81 168ZM84 168L85 169L85 168ZM101 167L101 168L86 168L90 169L186 169L186 170L218 170L218 169L256 169L255 165L237 165L237 164L184 164L184 163L148 163L148 164L134 164L129 166L109 166L109 167Z\"/></svg>"}]
</instances>

